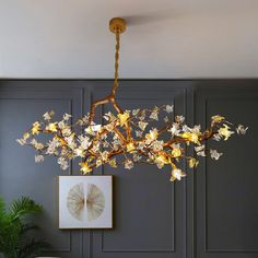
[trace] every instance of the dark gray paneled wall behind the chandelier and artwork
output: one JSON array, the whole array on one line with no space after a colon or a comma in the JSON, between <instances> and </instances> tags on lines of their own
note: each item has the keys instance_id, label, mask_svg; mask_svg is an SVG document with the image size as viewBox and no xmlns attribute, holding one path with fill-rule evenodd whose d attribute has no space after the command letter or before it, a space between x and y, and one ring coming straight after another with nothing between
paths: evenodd
<instances>
[{"instance_id":1,"label":"dark gray paneled wall behind the chandelier and artwork","mask_svg":"<svg viewBox=\"0 0 258 258\"><path fill-rule=\"evenodd\" d=\"M174 104L188 124L206 126L212 115L250 127L218 149L219 162L203 159L180 183L169 172L139 165L115 175L113 230L58 230L55 159L34 163L34 152L15 139L49 109L77 119L104 96L112 81L0 81L0 195L10 201L31 196L45 207L39 223L55 246L46 256L63 258L249 258L258 257L258 80L122 81L118 98L125 108ZM105 107L108 108L108 107ZM101 113L106 112L102 108ZM210 143L209 143L210 144ZM190 150L189 150L190 152ZM185 165L185 164L183 164ZM74 163L64 175L79 174Z\"/></svg>"}]
</instances>

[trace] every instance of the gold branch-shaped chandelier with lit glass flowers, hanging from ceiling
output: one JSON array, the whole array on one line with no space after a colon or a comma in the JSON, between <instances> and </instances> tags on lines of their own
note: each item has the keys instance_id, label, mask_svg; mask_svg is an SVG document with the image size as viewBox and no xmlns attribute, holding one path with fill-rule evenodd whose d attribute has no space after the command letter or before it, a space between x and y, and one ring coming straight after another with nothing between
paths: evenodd
<instances>
[{"instance_id":1,"label":"gold branch-shaped chandelier with lit glass flowers, hanging from ceiling","mask_svg":"<svg viewBox=\"0 0 258 258\"><path fill-rule=\"evenodd\" d=\"M171 181L174 181L186 176L180 168L184 161L194 168L199 163L199 156L209 155L215 161L220 159L223 153L208 150L206 141L226 141L233 133L246 133L248 128L243 125L235 127L221 115L212 116L209 128L204 130L201 130L200 125L189 127L184 116L174 114L171 105L124 110L117 103L116 91L120 34L126 31L125 20L110 20L109 30L116 36L115 80L110 93L94 102L90 113L73 125L70 114L64 114L61 120L54 120L54 110L45 113L40 120L35 121L17 142L36 150L36 163L43 162L47 155L54 155L60 168L67 169L69 161L78 159L83 175L101 165L120 165L131 169L137 163L146 163L160 169L169 166ZM102 125L96 124L95 109L108 103L115 112L105 114ZM157 127L156 124L161 121L164 125ZM50 139L42 142L38 140L39 134L50 136ZM187 155L188 145L194 145L194 156Z\"/></svg>"}]
</instances>

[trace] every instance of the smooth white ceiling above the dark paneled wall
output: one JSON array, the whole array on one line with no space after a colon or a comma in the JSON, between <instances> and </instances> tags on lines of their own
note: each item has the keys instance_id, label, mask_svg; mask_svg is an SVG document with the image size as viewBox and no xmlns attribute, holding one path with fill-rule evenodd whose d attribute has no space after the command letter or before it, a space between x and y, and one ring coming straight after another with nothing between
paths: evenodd
<instances>
[{"instance_id":1,"label":"smooth white ceiling above the dark paneled wall","mask_svg":"<svg viewBox=\"0 0 258 258\"><path fill-rule=\"evenodd\" d=\"M0 0L1 78L258 78L257 0Z\"/></svg>"}]
</instances>

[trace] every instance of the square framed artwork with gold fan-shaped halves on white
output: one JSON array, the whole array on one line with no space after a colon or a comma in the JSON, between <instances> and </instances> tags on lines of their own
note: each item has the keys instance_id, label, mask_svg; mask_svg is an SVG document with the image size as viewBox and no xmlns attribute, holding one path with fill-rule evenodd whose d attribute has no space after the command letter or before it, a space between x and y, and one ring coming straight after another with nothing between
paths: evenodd
<instances>
[{"instance_id":1,"label":"square framed artwork with gold fan-shaped halves on white","mask_svg":"<svg viewBox=\"0 0 258 258\"><path fill-rule=\"evenodd\" d=\"M59 176L59 228L112 228L113 176Z\"/></svg>"}]
</instances>

